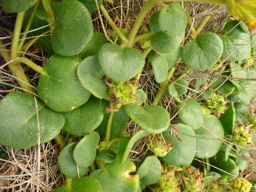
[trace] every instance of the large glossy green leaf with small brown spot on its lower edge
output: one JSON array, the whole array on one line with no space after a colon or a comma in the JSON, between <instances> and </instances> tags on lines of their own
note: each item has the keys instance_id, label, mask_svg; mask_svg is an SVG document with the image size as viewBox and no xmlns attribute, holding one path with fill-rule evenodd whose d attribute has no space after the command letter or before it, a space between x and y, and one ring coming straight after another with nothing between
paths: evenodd
<instances>
[{"instance_id":1,"label":"large glossy green leaf with small brown spot on its lower edge","mask_svg":"<svg viewBox=\"0 0 256 192\"><path fill-rule=\"evenodd\" d=\"M71 111L84 104L91 93L77 79L77 56L64 57L54 54L48 60L38 82L38 96L46 105L59 112Z\"/></svg>"}]
</instances>

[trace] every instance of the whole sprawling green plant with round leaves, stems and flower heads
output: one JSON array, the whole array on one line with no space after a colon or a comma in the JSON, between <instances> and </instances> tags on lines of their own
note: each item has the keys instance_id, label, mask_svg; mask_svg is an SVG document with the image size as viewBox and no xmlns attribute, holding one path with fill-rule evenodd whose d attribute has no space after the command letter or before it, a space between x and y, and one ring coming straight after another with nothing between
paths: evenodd
<instances>
[{"instance_id":1,"label":"whole sprawling green plant with round leaves, stems and flower heads","mask_svg":"<svg viewBox=\"0 0 256 192\"><path fill-rule=\"evenodd\" d=\"M0 102L0 143L24 149L55 139L61 148L58 162L67 185L54 192L139 192L147 185L155 192L248 192L251 185L242 181L239 187L239 178L235 178L246 168L241 154L249 153L244 147L255 140L256 117L247 105L255 95L256 72L244 68L253 63L250 55L255 50L255 37L250 37L249 30L255 11L250 12L251 18L241 17L244 22L224 24L221 34L201 34L210 16L195 29L180 3L148 0L133 28L119 30L102 3L1 1L6 12L17 13L17 20L11 53L5 51L1 41L0 53L24 93L11 92ZM241 15L239 2L216 3L227 4L236 19ZM162 9L150 16L148 27L137 35L144 16L156 4ZM112 37L94 32L90 14L97 9L112 26ZM181 47L187 23L191 41ZM24 44L19 42L21 26L32 36L49 30L50 36L35 37ZM47 27L33 30L43 26ZM114 44L117 36L119 44ZM35 42L51 55L44 68L20 57L19 52ZM143 53L134 48L137 42L145 49ZM159 83L152 105L146 104L148 98L139 89L146 57ZM179 99L191 89L183 79L186 73L170 82L181 59L186 73L208 69L216 73L208 81L195 80L194 88L199 90L195 98L200 96L203 104L192 97ZM41 74L36 87L30 85L20 62ZM169 112L158 105L165 92L178 103L180 123L170 125ZM212 109L223 114L218 118L212 115ZM132 137L122 134L129 118L141 127ZM80 137L79 142L66 144L59 135L61 129ZM154 156L146 157L136 167L127 159L129 152L139 139L150 134L154 137L150 136L146 146ZM193 167L194 159L201 162L203 172ZM89 167L89 177L83 177ZM230 180L230 186L222 185L222 181Z\"/></svg>"}]
</instances>

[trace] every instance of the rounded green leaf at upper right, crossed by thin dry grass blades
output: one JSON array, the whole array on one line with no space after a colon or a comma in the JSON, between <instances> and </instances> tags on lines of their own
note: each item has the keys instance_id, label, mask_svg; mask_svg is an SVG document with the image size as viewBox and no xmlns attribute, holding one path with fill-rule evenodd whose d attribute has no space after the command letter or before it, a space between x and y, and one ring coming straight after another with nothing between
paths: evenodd
<instances>
[{"instance_id":1,"label":"rounded green leaf at upper right, crossed by thin dry grass blades","mask_svg":"<svg viewBox=\"0 0 256 192\"><path fill-rule=\"evenodd\" d=\"M238 24L238 21L228 22L223 29L223 33L229 32L236 24ZM223 59L228 57L236 47L236 50L228 57L228 60L241 61L248 57L251 52L250 35L244 32L239 25L222 37L222 41L224 48L221 58Z\"/></svg>"}]
</instances>

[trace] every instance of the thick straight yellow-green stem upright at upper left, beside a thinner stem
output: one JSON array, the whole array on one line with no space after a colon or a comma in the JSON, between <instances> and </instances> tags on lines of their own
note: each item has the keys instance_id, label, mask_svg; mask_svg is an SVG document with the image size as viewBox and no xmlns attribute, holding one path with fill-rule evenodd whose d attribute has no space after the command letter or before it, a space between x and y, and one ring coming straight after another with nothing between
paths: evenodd
<instances>
[{"instance_id":1,"label":"thick straight yellow-green stem upright at upper left, beside a thinner stem","mask_svg":"<svg viewBox=\"0 0 256 192\"><path fill-rule=\"evenodd\" d=\"M21 27L22 27L24 14L25 14L24 11L20 12L20 13L17 13L15 28L14 28L14 31L13 31L13 42L12 42L10 60L13 60L17 57L17 51L18 51L18 45L19 45L19 39L20 39L20 30L21 30Z\"/></svg>"}]
</instances>

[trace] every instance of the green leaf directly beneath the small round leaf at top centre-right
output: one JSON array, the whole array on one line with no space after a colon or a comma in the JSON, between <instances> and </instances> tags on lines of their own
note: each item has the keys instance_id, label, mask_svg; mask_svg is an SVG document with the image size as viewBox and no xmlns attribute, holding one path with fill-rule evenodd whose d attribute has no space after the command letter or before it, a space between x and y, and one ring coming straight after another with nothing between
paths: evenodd
<instances>
[{"instance_id":1,"label":"green leaf directly beneath the small round leaf at top centre-right","mask_svg":"<svg viewBox=\"0 0 256 192\"><path fill-rule=\"evenodd\" d=\"M175 51L183 41L183 34L179 36L169 36L164 32L157 32L151 35L151 45L154 50L160 53L170 53Z\"/></svg>"}]
</instances>

